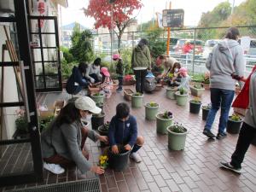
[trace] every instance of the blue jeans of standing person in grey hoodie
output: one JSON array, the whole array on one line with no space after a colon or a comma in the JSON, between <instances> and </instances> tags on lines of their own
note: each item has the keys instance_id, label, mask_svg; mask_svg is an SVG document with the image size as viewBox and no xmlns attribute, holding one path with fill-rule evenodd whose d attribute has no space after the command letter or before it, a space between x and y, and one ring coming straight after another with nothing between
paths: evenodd
<instances>
[{"instance_id":1,"label":"blue jeans of standing person in grey hoodie","mask_svg":"<svg viewBox=\"0 0 256 192\"><path fill-rule=\"evenodd\" d=\"M217 88L211 88L210 90L212 108L208 113L205 129L209 131L211 130L216 113L218 112L219 107L221 107L218 123L218 133L222 134L225 132L227 121L229 118L231 103L235 95L235 90L222 90Z\"/></svg>"}]
</instances>

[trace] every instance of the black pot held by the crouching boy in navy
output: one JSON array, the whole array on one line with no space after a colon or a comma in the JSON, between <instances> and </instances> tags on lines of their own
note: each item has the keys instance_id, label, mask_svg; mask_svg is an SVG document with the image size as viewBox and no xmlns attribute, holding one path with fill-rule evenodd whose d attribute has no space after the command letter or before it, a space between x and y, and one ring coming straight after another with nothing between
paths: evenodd
<instances>
[{"instance_id":1,"label":"black pot held by the crouching boy in navy","mask_svg":"<svg viewBox=\"0 0 256 192\"><path fill-rule=\"evenodd\" d=\"M111 147L108 148L108 166L114 171L123 171L128 165L128 158L131 151L126 151L124 147L119 146L119 154L113 154Z\"/></svg>"}]
</instances>

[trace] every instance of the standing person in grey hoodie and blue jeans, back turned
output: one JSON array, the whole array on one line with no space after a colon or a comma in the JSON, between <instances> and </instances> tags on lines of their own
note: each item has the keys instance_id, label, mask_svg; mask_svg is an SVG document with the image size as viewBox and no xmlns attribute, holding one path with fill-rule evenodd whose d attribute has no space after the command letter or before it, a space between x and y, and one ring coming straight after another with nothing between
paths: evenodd
<instances>
[{"instance_id":1,"label":"standing person in grey hoodie and blue jeans, back turned","mask_svg":"<svg viewBox=\"0 0 256 192\"><path fill-rule=\"evenodd\" d=\"M236 73L241 77L245 69L243 51L237 42L238 36L238 29L230 27L224 40L214 46L212 54L207 58L206 65L210 71L212 108L207 116L203 134L209 138L215 137L211 129L219 108L221 108L221 113L217 139L226 137L225 128L236 89L236 79L232 79L232 74Z\"/></svg>"}]
</instances>

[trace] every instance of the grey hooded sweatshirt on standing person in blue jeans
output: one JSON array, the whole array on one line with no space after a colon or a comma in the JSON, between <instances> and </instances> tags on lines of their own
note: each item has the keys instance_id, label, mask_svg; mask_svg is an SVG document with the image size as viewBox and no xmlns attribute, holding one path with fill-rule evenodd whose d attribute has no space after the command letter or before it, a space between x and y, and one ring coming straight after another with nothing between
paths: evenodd
<instances>
[{"instance_id":1,"label":"grey hooded sweatshirt on standing person in blue jeans","mask_svg":"<svg viewBox=\"0 0 256 192\"><path fill-rule=\"evenodd\" d=\"M245 70L241 45L233 39L225 38L214 46L206 66L210 70L211 88L235 90L236 80L231 78L231 73L243 76Z\"/></svg>"}]
</instances>

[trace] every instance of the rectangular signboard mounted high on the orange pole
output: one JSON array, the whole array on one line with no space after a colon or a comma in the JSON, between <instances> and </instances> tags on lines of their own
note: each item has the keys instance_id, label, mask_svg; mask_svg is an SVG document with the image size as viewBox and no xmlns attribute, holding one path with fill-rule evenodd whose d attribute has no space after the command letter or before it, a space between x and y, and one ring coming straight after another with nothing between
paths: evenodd
<instances>
[{"instance_id":1,"label":"rectangular signboard mounted high on the orange pole","mask_svg":"<svg viewBox=\"0 0 256 192\"><path fill-rule=\"evenodd\" d=\"M164 9L163 26L165 27L183 27L184 10L183 9Z\"/></svg>"}]
</instances>

